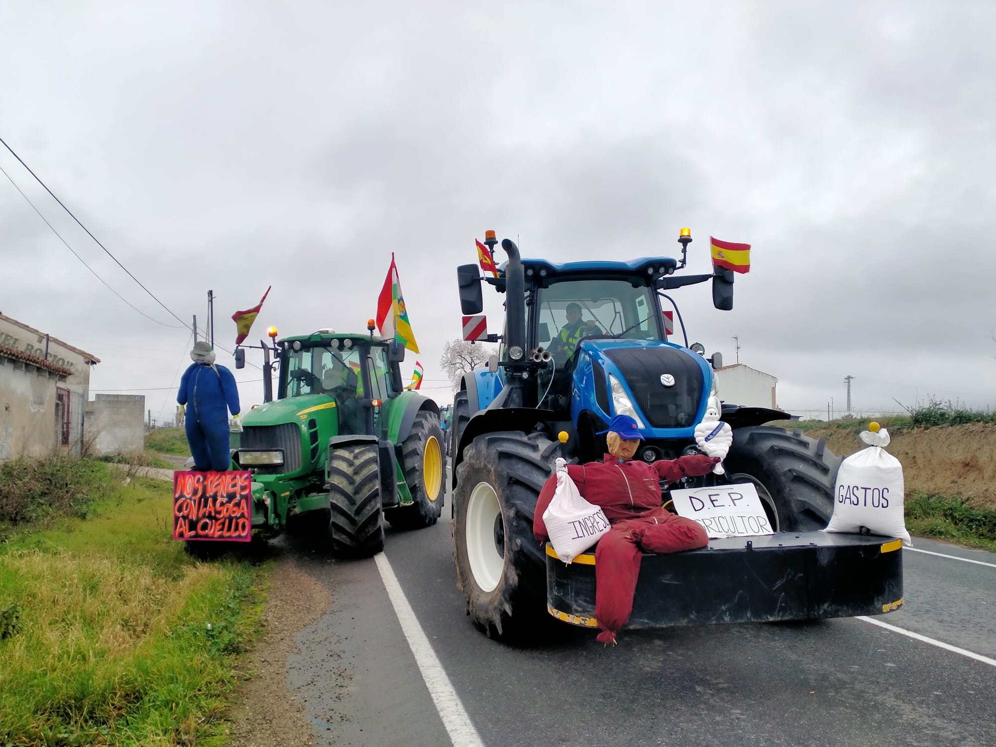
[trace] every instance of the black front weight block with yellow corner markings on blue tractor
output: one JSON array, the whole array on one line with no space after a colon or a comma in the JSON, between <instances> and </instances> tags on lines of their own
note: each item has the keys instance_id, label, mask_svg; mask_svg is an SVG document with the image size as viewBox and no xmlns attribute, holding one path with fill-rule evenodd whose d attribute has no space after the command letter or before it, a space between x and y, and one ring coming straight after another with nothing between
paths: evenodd
<instances>
[{"instance_id":1,"label":"black front weight block with yellow corner markings on blue tractor","mask_svg":"<svg viewBox=\"0 0 996 747\"><path fill-rule=\"evenodd\" d=\"M902 542L824 532L710 540L643 555L626 628L882 615L902 605ZM547 611L595 621L595 553L566 565L546 545Z\"/></svg>"}]
</instances>

